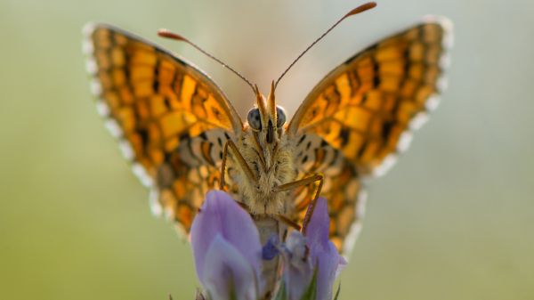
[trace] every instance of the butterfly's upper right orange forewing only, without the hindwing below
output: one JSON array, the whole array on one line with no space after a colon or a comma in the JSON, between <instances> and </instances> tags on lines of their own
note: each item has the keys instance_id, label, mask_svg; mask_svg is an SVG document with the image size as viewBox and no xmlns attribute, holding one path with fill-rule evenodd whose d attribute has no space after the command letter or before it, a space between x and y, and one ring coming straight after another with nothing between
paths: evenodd
<instances>
[{"instance_id":1,"label":"butterfly's upper right orange forewing only, without the hindwing below","mask_svg":"<svg viewBox=\"0 0 534 300\"><path fill-rule=\"evenodd\" d=\"M289 132L318 134L360 174L383 173L378 166L408 146L409 129L436 105L447 28L429 21L345 61L303 101Z\"/></svg>"}]
</instances>

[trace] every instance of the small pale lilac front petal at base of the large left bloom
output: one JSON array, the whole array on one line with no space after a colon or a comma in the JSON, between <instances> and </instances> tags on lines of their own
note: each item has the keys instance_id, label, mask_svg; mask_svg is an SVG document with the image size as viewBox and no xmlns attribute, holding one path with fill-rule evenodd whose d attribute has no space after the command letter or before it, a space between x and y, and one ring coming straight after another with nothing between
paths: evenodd
<instances>
[{"instance_id":1,"label":"small pale lilac front petal at base of the large left bloom","mask_svg":"<svg viewBox=\"0 0 534 300\"><path fill-rule=\"evenodd\" d=\"M255 270L245 256L217 234L206 252L203 285L212 299L255 300Z\"/></svg>"}]
</instances>

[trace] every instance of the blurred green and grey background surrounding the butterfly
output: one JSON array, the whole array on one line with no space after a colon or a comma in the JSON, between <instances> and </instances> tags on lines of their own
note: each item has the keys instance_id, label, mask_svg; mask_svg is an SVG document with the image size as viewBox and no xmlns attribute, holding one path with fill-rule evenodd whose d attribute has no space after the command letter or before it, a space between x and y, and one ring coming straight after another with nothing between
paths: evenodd
<instances>
[{"instance_id":1,"label":"blurred green and grey background surrounding the butterfly","mask_svg":"<svg viewBox=\"0 0 534 300\"><path fill-rule=\"evenodd\" d=\"M242 114L361 1L0 2L0 299L192 299L190 246L150 214L89 93L81 28L102 20L214 77ZM455 24L449 90L392 171L369 182L341 299L534 299L532 1L393 1L336 28L281 82L292 115L320 78L427 13Z\"/></svg>"}]
</instances>

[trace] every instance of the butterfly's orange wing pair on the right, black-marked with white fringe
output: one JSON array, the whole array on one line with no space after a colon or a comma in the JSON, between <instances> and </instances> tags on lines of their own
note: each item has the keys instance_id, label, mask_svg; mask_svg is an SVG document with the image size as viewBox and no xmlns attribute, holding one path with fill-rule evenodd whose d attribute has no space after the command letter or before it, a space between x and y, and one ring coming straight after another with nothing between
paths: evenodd
<instances>
[{"instance_id":1,"label":"butterfly's orange wing pair on the right, black-marked with white fringe","mask_svg":"<svg viewBox=\"0 0 534 300\"><path fill-rule=\"evenodd\" d=\"M410 130L436 105L449 28L447 20L428 19L356 54L312 90L287 127L295 138L321 141L316 148L297 152L295 160L302 175L331 173L333 183L325 184L321 195L329 201L330 235L340 249L350 250L344 239L351 228L359 228L360 178L384 174L408 146ZM344 161L318 168L325 163L321 148L338 151ZM303 163L304 157L312 163ZM312 189L297 195L304 207Z\"/></svg>"}]
</instances>

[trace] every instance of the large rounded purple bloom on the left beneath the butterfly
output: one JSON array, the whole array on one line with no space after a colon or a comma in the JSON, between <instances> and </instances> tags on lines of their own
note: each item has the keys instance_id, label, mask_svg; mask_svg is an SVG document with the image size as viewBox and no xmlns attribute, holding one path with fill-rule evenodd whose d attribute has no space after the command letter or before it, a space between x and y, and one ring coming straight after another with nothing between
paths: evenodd
<instances>
[{"instance_id":1,"label":"large rounded purple bloom on the left beneath the butterfly","mask_svg":"<svg viewBox=\"0 0 534 300\"><path fill-rule=\"evenodd\" d=\"M191 227L198 280L211 299L256 300L262 245L248 213L223 191L209 191Z\"/></svg>"}]
</instances>

